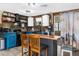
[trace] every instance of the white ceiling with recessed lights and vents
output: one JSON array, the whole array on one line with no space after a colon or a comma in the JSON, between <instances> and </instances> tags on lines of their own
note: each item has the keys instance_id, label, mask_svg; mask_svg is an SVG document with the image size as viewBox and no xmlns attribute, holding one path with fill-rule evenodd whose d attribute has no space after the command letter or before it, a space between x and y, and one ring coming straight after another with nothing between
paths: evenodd
<instances>
[{"instance_id":1,"label":"white ceiling with recessed lights and vents","mask_svg":"<svg viewBox=\"0 0 79 59\"><path fill-rule=\"evenodd\" d=\"M77 8L79 8L79 3L0 3L0 10L26 16L36 16Z\"/></svg>"}]
</instances>

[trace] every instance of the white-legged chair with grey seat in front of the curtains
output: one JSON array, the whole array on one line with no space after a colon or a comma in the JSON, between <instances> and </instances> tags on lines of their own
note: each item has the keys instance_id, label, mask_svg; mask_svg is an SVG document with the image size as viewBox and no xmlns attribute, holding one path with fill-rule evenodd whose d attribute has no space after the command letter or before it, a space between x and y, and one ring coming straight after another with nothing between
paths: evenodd
<instances>
[{"instance_id":1,"label":"white-legged chair with grey seat in front of the curtains","mask_svg":"<svg viewBox=\"0 0 79 59\"><path fill-rule=\"evenodd\" d=\"M66 43L62 44L62 53L61 53L62 56L64 55L63 54L64 52L68 52L68 53L70 53L70 56L72 56L73 51L76 51L77 43L76 43L76 40L74 40L74 39L75 39L74 35L71 37L71 36L69 36L69 34L66 34L66 40L64 38ZM71 44L71 42L72 42L72 44ZM75 46L73 46L74 44L75 44Z\"/></svg>"}]
</instances>

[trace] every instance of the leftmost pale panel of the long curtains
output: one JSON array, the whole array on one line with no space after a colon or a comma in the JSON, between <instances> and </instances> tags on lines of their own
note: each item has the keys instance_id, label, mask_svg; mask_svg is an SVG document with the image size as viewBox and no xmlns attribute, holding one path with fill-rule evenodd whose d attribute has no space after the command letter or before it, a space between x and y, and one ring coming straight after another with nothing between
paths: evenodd
<instances>
[{"instance_id":1,"label":"leftmost pale panel of the long curtains","mask_svg":"<svg viewBox=\"0 0 79 59\"><path fill-rule=\"evenodd\" d=\"M60 20L61 36L65 36L65 34L68 32L68 13L61 13Z\"/></svg>"}]
</instances>

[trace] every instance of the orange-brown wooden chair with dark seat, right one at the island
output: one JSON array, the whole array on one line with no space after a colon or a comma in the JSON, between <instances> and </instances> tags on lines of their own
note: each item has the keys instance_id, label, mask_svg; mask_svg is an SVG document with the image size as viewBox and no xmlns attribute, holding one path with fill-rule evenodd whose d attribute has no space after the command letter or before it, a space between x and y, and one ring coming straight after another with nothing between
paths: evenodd
<instances>
[{"instance_id":1,"label":"orange-brown wooden chair with dark seat, right one at the island","mask_svg":"<svg viewBox=\"0 0 79 59\"><path fill-rule=\"evenodd\" d=\"M45 49L46 56L48 51L48 46L45 44L40 43L40 36L39 35L30 35L30 55L32 56L32 52L35 52L36 55L41 55L41 51Z\"/></svg>"}]
</instances>

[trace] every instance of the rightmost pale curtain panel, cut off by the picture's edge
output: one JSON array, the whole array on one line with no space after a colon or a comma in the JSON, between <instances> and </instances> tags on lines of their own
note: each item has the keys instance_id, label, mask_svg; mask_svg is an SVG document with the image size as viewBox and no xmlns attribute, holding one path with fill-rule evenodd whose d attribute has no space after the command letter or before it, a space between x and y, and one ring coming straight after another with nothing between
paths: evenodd
<instances>
[{"instance_id":1,"label":"rightmost pale curtain panel, cut off by the picture's edge","mask_svg":"<svg viewBox=\"0 0 79 59\"><path fill-rule=\"evenodd\" d=\"M74 12L74 34L77 41L77 48L79 48L79 12Z\"/></svg>"}]
</instances>

